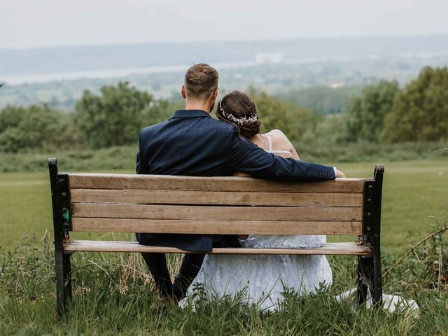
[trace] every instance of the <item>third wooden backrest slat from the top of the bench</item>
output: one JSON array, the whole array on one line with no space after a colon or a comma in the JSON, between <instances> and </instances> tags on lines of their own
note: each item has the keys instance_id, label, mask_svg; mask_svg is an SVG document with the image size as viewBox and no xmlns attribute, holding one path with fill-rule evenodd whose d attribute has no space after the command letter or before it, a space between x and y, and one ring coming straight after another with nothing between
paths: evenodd
<instances>
[{"instance_id":1,"label":"third wooden backrest slat from the top of the bench","mask_svg":"<svg viewBox=\"0 0 448 336\"><path fill-rule=\"evenodd\" d=\"M359 207L207 207L75 203L73 217L181 219L190 221L362 221Z\"/></svg>"}]
</instances>

